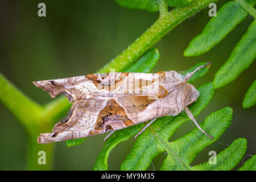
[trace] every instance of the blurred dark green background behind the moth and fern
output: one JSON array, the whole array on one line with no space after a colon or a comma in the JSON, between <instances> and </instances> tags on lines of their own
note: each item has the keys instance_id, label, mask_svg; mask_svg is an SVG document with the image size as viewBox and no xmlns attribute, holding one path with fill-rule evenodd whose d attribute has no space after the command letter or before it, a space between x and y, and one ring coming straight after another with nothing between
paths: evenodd
<instances>
[{"instance_id":1,"label":"blurred dark green background behind the moth and fern","mask_svg":"<svg viewBox=\"0 0 256 182\"><path fill-rule=\"evenodd\" d=\"M38 16L38 3L46 3L46 17ZM226 1L219 1L217 9ZM253 18L238 24L220 44L197 57L184 57L183 51L209 21L208 8L186 20L164 36L155 47L160 60L152 72L184 71L199 61L212 61L207 76L195 86L213 80L214 73L228 59L230 52L246 32ZM119 7L114 0L98 1L1 1L0 5L0 72L20 90L39 104L52 101L47 92L32 85L32 81L81 76L94 73L129 46L158 18L158 13ZM242 109L242 100L255 79L255 63L236 81L216 90L212 101L196 117L202 122L208 114L225 106L233 109L232 125L217 142L205 148L192 165L209 159L208 152L217 153L234 139L247 139L246 154L255 154L255 106ZM0 88L1 89L1 88ZM27 138L18 120L0 103L0 169L26 169ZM56 121L57 122L57 121ZM187 122L171 140L193 129ZM91 170L104 146L105 135L89 137L80 146L68 148L56 143L53 169ZM111 152L109 169L119 169L135 140L122 142ZM152 164L159 169L167 154L161 154ZM241 162L242 163L242 162ZM241 166L240 163L240 166ZM152 170L153 167L148 167Z\"/></svg>"}]
</instances>

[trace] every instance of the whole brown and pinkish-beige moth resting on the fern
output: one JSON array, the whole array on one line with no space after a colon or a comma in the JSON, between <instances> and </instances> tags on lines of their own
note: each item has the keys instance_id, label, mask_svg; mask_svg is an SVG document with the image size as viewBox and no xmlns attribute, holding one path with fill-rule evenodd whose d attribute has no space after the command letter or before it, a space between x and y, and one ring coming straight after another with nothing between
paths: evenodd
<instances>
[{"instance_id":1,"label":"whole brown and pinkish-beige moth resting on the fern","mask_svg":"<svg viewBox=\"0 0 256 182\"><path fill-rule=\"evenodd\" d=\"M199 92L187 81L199 69L182 76L175 71L158 73L99 73L56 80L35 81L51 97L64 94L73 103L68 116L56 123L52 133L40 134L38 143L52 143L115 131L156 118L178 115L185 110L197 124L188 106ZM106 137L105 139L107 139ZM135 138L136 138L135 137Z\"/></svg>"}]
</instances>

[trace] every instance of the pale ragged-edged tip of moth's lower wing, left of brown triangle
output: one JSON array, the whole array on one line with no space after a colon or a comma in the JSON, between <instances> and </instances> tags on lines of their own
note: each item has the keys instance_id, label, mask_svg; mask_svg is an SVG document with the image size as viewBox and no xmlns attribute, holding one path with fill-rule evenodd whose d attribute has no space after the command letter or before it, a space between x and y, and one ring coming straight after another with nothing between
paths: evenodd
<instances>
[{"instance_id":1,"label":"pale ragged-edged tip of moth's lower wing, left of brown triangle","mask_svg":"<svg viewBox=\"0 0 256 182\"><path fill-rule=\"evenodd\" d=\"M38 143L52 143L89 136L94 129L98 113L106 105L105 100L75 101L68 116L53 127L52 133L40 134Z\"/></svg>"}]
</instances>

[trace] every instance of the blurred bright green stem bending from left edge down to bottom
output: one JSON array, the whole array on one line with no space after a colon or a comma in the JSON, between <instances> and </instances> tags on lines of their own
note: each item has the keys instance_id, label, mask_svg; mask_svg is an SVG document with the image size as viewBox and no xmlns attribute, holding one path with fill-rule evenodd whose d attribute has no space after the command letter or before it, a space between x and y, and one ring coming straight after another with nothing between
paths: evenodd
<instances>
[{"instance_id":1,"label":"blurred bright green stem bending from left edge down to bottom","mask_svg":"<svg viewBox=\"0 0 256 182\"><path fill-rule=\"evenodd\" d=\"M51 130L49 119L43 119L44 107L30 100L0 73L0 101L15 115L27 133L27 169L51 169L53 145L42 145L36 142L38 134ZM38 152L46 152L46 165L38 164Z\"/></svg>"}]
</instances>

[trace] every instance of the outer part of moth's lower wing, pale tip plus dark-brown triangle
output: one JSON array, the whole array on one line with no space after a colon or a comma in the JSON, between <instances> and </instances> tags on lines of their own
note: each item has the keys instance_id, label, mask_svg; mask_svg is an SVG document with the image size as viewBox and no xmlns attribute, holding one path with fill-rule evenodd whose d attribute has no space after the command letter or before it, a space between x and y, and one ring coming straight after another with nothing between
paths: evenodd
<instances>
[{"instance_id":1,"label":"outer part of moth's lower wing, pale tip plus dark-brown triangle","mask_svg":"<svg viewBox=\"0 0 256 182\"><path fill-rule=\"evenodd\" d=\"M64 122L56 123L52 133L40 134L38 143L84 138L133 126L125 108L114 99L96 97L75 101Z\"/></svg>"}]
</instances>

